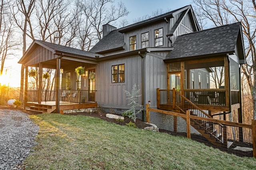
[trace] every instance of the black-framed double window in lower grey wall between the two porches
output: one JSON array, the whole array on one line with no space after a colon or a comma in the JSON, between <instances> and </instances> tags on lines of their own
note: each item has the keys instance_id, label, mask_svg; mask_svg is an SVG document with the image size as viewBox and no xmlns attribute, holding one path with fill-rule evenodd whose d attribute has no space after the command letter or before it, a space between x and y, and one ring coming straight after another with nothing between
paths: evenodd
<instances>
[{"instance_id":1,"label":"black-framed double window in lower grey wall between the two porches","mask_svg":"<svg viewBox=\"0 0 256 170\"><path fill-rule=\"evenodd\" d=\"M124 64L112 65L112 83L124 82Z\"/></svg>"}]
</instances>

